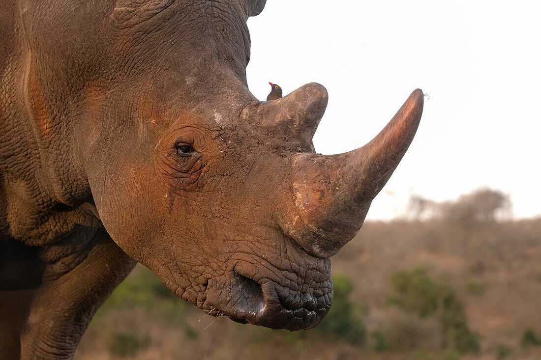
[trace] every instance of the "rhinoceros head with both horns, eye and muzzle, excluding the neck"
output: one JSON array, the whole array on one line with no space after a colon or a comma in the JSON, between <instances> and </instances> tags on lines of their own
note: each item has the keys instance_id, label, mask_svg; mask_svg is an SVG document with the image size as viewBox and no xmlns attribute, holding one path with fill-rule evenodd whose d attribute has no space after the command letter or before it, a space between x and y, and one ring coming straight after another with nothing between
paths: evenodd
<instances>
[{"instance_id":1,"label":"rhinoceros head with both horns, eye and muzzle, excluding the neck","mask_svg":"<svg viewBox=\"0 0 541 360\"><path fill-rule=\"evenodd\" d=\"M246 19L264 1L119 2L80 128L105 228L211 315L316 326L333 298L329 257L404 155L422 92L363 148L317 155L323 86L272 102L247 89Z\"/></svg>"}]
</instances>

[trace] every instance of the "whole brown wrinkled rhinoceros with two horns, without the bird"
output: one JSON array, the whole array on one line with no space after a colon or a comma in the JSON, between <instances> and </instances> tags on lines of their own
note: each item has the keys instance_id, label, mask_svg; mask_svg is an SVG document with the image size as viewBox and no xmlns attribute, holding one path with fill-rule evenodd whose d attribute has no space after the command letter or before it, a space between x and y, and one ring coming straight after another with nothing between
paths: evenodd
<instances>
[{"instance_id":1,"label":"whole brown wrinkled rhinoceros with two horns, without the bird","mask_svg":"<svg viewBox=\"0 0 541 360\"><path fill-rule=\"evenodd\" d=\"M0 0L0 357L70 358L143 264L210 315L309 329L331 262L410 145L413 91L371 142L314 151L310 83L248 90L265 0Z\"/></svg>"}]
</instances>

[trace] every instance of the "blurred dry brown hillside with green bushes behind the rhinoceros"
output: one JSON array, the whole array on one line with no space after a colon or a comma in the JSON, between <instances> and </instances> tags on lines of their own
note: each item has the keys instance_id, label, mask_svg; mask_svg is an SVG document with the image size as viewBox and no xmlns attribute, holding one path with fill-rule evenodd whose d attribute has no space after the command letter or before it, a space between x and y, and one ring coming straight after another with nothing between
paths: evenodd
<instances>
[{"instance_id":1,"label":"blurred dry brown hillside with green bushes behind the rhinoceros","mask_svg":"<svg viewBox=\"0 0 541 360\"><path fill-rule=\"evenodd\" d=\"M541 359L541 219L510 218L496 190L412 196L332 258L332 309L308 331L204 316L137 265L75 358Z\"/></svg>"}]
</instances>

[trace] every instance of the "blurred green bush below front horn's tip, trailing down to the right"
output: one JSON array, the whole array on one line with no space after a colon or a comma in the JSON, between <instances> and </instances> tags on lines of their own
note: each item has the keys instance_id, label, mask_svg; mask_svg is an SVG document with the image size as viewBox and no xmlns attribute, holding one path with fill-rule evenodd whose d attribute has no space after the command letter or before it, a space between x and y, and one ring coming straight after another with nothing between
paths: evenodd
<instances>
[{"instance_id":1,"label":"blurred green bush below front horn's tip, trailing down to the right","mask_svg":"<svg viewBox=\"0 0 541 360\"><path fill-rule=\"evenodd\" d=\"M419 317L436 316L441 324L445 345L460 354L479 351L479 340L467 325L464 306L454 289L431 278L425 268L399 271L391 277L390 304Z\"/></svg>"}]
</instances>

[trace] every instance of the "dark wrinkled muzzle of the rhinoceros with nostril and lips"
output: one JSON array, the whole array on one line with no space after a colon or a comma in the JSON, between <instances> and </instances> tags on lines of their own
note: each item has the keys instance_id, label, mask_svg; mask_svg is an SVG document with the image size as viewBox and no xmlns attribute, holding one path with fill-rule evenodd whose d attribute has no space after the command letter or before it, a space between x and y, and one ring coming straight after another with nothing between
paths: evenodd
<instances>
[{"instance_id":1,"label":"dark wrinkled muzzle of the rhinoceros with nostril and lips","mask_svg":"<svg viewBox=\"0 0 541 360\"><path fill-rule=\"evenodd\" d=\"M331 308L330 274L326 281L302 290L234 269L226 281L209 280L203 308L212 316L225 315L239 323L272 329L301 330L317 326Z\"/></svg>"}]
</instances>

